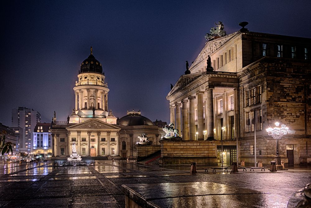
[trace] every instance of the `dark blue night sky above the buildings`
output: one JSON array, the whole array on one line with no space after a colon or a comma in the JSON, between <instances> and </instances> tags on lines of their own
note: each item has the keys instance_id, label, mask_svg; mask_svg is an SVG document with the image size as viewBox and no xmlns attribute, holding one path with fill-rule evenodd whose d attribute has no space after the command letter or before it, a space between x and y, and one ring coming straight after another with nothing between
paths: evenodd
<instances>
[{"instance_id":1,"label":"dark blue night sky above the buildings","mask_svg":"<svg viewBox=\"0 0 311 208\"><path fill-rule=\"evenodd\" d=\"M19 106L39 111L42 122L51 122L53 111L66 121L91 46L115 116L135 109L169 122L170 84L197 57L215 22L227 34L248 21L250 31L311 38L311 1L257 2L4 1L0 122L11 126Z\"/></svg>"}]
</instances>

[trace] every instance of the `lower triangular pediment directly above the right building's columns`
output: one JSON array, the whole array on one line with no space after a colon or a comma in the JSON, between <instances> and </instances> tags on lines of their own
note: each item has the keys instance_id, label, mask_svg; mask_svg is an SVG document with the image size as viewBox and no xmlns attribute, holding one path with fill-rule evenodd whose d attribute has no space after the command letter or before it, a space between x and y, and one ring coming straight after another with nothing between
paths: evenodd
<instances>
[{"instance_id":1,"label":"lower triangular pediment directly above the right building's columns","mask_svg":"<svg viewBox=\"0 0 311 208\"><path fill-rule=\"evenodd\" d=\"M193 73L189 75L182 75L178 79L174 87L171 89L167 97L175 94L176 92L179 92L180 90L183 90L183 88L185 87L190 87L191 85L196 83L198 80L200 80L200 77L204 76L204 74L205 73L198 72L198 73Z\"/></svg>"}]
</instances>

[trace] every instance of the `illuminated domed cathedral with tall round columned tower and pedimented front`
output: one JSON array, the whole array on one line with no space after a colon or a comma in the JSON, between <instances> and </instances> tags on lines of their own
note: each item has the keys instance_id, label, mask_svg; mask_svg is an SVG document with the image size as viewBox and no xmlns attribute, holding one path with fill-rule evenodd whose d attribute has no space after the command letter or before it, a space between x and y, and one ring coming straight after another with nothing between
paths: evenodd
<instances>
[{"instance_id":1,"label":"illuminated domed cathedral with tall round columned tower and pedimented front","mask_svg":"<svg viewBox=\"0 0 311 208\"><path fill-rule=\"evenodd\" d=\"M117 119L108 111L108 86L101 63L91 54L81 63L78 81L73 88L75 108L67 121L57 121L56 113L51 124L52 159L67 159L75 143L77 154L86 159L104 160L114 157L136 158L135 145L143 133L151 142L159 144L162 128L140 115L128 112ZM159 133L160 132L160 133Z\"/></svg>"}]
</instances>

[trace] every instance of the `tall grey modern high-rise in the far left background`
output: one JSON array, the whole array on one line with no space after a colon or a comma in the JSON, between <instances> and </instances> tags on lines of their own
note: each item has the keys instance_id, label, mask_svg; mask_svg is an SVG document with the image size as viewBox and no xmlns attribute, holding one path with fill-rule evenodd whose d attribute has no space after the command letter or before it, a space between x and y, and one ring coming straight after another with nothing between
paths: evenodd
<instances>
[{"instance_id":1,"label":"tall grey modern high-rise in the far left background","mask_svg":"<svg viewBox=\"0 0 311 208\"><path fill-rule=\"evenodd\" d=\"M34 109L26 107L12 109L12 126L23 128L24 142L20 142L20 151L30 151L33 129L40 121L41 115Z\"/></svg>"}]
</instances>

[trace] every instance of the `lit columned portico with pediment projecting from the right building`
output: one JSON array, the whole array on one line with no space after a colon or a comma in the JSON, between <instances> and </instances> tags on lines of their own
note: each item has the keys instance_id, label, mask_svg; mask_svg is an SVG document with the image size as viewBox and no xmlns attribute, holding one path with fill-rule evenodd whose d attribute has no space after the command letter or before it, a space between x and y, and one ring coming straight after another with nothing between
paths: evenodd
<instances>
[{"instance_id":1,"label":"lit columned portico with pediment projecting from the right building","mask_svg":"<svg viewBox=\"0 0 311 208\"><path fill-rule=\"evenodd\" d=\"M224 133L230 133L224 131L224 127L229 126L231 122L226 118L231 114L239 115L238 96L237 73L204 71L182 75L166 97L170 106L170 122L182 132L183 140L204 140L214 138L216 135L224 136ZM228 102L228 99L233 99L233 102ZM232 103L234 106L225 103ZM222 118L220 122L218 122L219 115ZM237 116L234 118L236 120ZM231 132L230 136L236 138L239 130L236 125L238 122L232 123L236 130ZM228 133L226 135L229 135Z\"/></svg>"}]
</instances>

